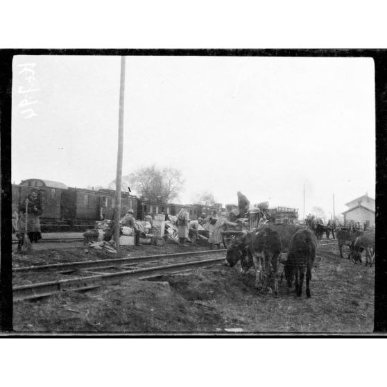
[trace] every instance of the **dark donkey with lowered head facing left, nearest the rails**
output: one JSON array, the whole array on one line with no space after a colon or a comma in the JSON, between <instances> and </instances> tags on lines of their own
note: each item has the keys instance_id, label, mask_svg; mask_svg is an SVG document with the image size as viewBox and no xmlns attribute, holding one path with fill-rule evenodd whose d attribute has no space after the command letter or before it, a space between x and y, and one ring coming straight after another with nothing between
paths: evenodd
<instances>
[{"instance_id":1,"label":"dark donkey with lowered head facing left, nearest the rails","mask_svg":"<svg viewBox=\"0 0 387 387\"><path fill-rule=\"evenodd\" d=\"M255 266L255 287L268 288L268 277L274 277L274 294L278 295L279 255L282 246L277 231L262 227L252 232L244 232L229 248L225 259L226 266L234 266L241 259L244 273ZM252 262L252 263L251 263Z\"/></svg>"}]
</instances>

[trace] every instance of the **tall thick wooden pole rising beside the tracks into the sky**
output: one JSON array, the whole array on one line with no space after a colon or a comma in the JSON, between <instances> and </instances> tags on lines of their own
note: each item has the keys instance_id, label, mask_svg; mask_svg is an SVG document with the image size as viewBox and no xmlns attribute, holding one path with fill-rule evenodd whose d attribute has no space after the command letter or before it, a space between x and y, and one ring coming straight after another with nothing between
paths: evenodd
<instances>
[{"instance_id":1,"label":"tall thick wooden pole rising beside the tracks into the sky","mask_svg":"<svg viewBox=\"0 0 387 387\"><path fill-rule=\"evenodd\" d=\"M121 78L119 84L119 144L117 152L116 206L114 211L114 241L119 250L119 220L121 218L121 179L123 153L123 103L125 101L125 56L121 56Z\"/></svg>"}]
</instances>

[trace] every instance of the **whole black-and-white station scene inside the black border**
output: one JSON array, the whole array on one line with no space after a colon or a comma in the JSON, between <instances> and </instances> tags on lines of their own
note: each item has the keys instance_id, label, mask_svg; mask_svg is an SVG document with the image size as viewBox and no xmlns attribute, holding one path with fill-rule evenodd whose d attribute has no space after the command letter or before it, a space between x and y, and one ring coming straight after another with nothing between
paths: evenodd
<instances>
[{"instance_id":1,"label":"whole black-and-white station scene inside the black border","mask_svg":"<svg viewBox=\"0 0 387 387\"><path fill-rule=\"evenodd\" d=\"M375 62L326 52L14 55L14 332L374 332Z\"/></svg>"}]
</instances>

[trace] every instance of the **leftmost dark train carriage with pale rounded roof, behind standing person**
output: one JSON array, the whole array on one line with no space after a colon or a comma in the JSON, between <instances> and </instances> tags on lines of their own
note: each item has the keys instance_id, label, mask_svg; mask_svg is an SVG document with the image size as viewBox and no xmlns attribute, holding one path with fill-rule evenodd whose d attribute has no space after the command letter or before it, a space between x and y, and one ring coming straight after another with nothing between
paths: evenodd
<instances>
[{"instance_id":1,"label":"leftmost dark train carriage with pale rounded roof, behind standing person","mask_svg":"<svg viewBox=\"0 0 387 387\"><path fill-rule=\"evenodd\" d=\"M17 188L16 188L17 187ZM19 186L12 189L12 209L14 205L13 194L17 192L17 203L31 192L32 189L37 189L42 202L43 214L40 217L42 224L58 223L62 220L61 198L62 193L67 191L67 186L61 182L53 182L51 180L42 179L26 179L20 182Z\"/></svg>"}]
</instances>

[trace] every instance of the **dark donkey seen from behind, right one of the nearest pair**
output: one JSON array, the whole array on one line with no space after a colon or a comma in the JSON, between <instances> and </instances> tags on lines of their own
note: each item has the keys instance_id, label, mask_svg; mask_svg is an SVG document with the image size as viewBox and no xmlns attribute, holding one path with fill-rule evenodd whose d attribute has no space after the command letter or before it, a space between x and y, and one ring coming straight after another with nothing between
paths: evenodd
<instances>
[{"instance_id":1,"label":"dark donkey seen from behind, right one of the nearest pair","mask_svg":"<svg viewBox=\"0 0 387 387\"><path fill-rule=\"evenodd\" d=\"M288 259L286 259L284 272L289 288L295 279L295 293L298 297L302 294L302 285L306 273L307 297L311 297L310 280L311 269L316 259L317 239L311 230L298 230L291 240Z\"/></svg>"}]
</instances>

